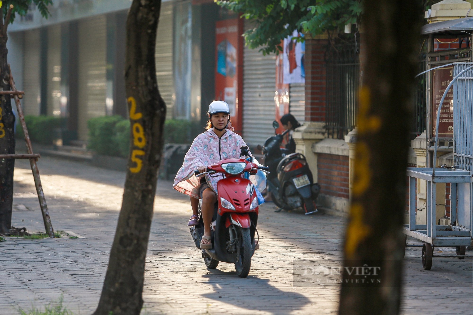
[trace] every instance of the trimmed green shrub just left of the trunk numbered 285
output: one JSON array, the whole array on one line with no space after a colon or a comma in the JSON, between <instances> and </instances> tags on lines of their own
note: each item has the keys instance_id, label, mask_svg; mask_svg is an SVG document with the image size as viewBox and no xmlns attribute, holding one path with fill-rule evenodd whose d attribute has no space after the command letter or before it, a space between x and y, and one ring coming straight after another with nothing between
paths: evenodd
<instances>
[{"instance_id":1,"label":"trimmed green shrub just left of the trunk numbered 285","mask_svg":"<svg viewBox=\"0 0 473 315\"><path fill-rule=\"evenodd\" d=\"M88 147L101 155L120 156L114 142L115 125L124 120L122 116L101 116L87 120Z\"/></svg>"}]
</instances>

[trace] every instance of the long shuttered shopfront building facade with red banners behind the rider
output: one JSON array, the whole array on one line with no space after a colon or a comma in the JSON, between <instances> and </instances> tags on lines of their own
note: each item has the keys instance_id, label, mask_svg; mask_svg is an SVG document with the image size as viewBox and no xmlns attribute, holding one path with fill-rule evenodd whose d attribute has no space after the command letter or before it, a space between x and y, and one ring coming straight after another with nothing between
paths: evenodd
<instances>
[{"instance_id":1,"label":"long shuttered shopfront building facade with red banners behind the rider","mask_svg":"<svg viewBox=\"0 0 473 315\"><path fill-rule=\"evenodd\" d=\"M129 0L64 0L50 7L48 19L32 5L25 17L9 27L9 62L18 89L25 91L24 112L63 117L66 142L86 141L90 118L127 117L123 65L130 4ZM236 131L256 146L274 133L275 56L244 46L241 34L254 26L243 20L210 0L163 1L156 74L168 119L191 121L197 135L208 119L210 102L227 100L235 106ZM235 31L238 43L228 46L231 32L224 34L223 42L235 49L239 60L235 77L231 73L222 77L216 69L223 47L219 38L222 30L228 31L222 25L232 21L238 27L227 28ZM231 52L224 52L228 61ZM231 72L231 61L228 64ZM223 86L222 80L230 83ZM219 92L220 86L224 90ZM294 99L291 105L297 105L291 106L291 112L303 121L304 86L291 85L290 99Z\"/></svg>"}]
</instances>

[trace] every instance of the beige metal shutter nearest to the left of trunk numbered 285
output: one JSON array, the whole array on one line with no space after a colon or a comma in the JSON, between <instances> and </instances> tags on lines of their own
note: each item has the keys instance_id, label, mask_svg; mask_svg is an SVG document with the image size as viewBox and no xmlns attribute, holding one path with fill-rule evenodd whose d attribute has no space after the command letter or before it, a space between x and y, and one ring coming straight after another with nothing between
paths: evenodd
<instances>
[{"instance_id":1,"label":"beige metal shutter nearest to the left of trunk numbered 285","mask_svg":"<svg viewBox=\"0 0 473 315\"><path fill-rule=\"evenodd\" d=\"M105 115L106 16L79 20L79 140L88 137L87 120Z\"/></svg>"}]
</instances>

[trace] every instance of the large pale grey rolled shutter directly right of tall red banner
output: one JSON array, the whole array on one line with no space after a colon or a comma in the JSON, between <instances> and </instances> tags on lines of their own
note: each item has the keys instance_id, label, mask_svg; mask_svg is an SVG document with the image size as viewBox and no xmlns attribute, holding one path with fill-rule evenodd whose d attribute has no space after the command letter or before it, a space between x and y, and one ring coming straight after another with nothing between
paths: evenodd
<instances>
[{"instance_id":1,"label":"large pale grey rolled shutter directly right of tall red banner","mask_svg":"<svg viewBox=\"0 0 473 315\"><path fill-rule=\"evenodd\" d=\"M245 20L245 30L253 27ZM252 146L274 135L276 55L258 50L243 49L243 139Z\"/></svg>"}]
</instances>

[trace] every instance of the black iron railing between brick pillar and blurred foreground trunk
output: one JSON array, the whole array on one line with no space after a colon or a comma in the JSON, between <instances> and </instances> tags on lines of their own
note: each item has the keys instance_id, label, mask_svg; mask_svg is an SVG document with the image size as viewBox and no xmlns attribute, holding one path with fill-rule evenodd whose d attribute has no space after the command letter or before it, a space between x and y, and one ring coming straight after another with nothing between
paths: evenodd
<instances>
[{"instance_id":1,"label":"black iron railing between brick pillar and blurred foreground trunk","mask_svg":"<svg viewBox=\"0 0 473 315\"><path fill-rule=\"evenodd\" d=\"M325 128L329 138L343 139L357 121L359 47L356 43L330 45L325 62Z\"/></svg>"}]
</instances>

